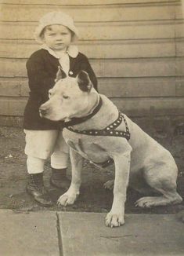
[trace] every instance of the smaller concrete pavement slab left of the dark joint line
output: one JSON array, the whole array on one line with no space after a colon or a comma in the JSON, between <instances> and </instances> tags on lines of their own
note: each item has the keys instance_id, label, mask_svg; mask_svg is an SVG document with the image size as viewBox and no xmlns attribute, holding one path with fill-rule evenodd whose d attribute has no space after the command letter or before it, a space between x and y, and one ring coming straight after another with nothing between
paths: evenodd
<instances>
[{"instance_id":1,"label":"smaller concrete pavement slab left of the dark joint line","mask_svg":"<svg viewBox=\"0 0 184 256\"><path fill-rule=\"evenodd\" d=\"M0 210L0 255L60 255L55 212Z\"/></svg>"}]
</instances>

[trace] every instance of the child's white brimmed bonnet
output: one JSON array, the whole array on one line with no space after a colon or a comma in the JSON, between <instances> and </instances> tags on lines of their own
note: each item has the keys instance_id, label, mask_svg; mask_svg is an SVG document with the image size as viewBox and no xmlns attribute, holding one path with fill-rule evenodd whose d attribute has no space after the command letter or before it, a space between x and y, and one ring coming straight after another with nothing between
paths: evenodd
<instances>
[{"instance_id":1,"label":"child's white brimmed bonnet","mask_svg":"<svg viewBox=\"0 0 184 256\"><path fill-rule=\"evenodd\" d=\"M39 20L38 27L36 27L34 31L34 38L37 42L42 43L41 40L41 31L46 26L54 25L54 24L60 24L65 27L68 27L70 31L74 32L74 38L78 37L78 29L74 26L74 20L71 16L67 15L63 12L52 12L52 13L46 13L45 16L42 16Z\"/></svg>"}]
</instances>

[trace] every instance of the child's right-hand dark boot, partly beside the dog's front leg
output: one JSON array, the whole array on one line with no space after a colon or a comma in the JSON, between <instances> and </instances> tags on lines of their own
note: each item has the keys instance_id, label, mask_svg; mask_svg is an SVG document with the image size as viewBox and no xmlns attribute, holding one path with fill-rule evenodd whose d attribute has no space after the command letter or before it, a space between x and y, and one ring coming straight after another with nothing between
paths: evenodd
<instances>
[{"instance_id":1,"label":"child's right-hand dark boot, partly beside the dog's front leg","mask_svg":"<svg viewBox=\"0 0 184 256\"><path fill-rule=\"evenodd\" d=\"M50 184L56 188L68 189L70 187L70 180L67 178L67 169L52 168Z\"/></svg>"}]
</instances>

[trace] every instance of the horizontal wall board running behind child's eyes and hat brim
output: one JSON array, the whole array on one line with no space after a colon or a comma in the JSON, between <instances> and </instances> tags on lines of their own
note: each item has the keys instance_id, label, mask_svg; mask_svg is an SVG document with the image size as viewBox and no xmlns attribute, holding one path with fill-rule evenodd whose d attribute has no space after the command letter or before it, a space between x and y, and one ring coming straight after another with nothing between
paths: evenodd
<instances>
[{"instance_id":1,"label":"horizontal wall board running behind child's eyes and hat brim","mask_svg":"<svg viewBox=\"0 0 184 256\"><path fill-rule=\"evenodd\" d=\"M37 23L1 22L1 38L20 40L31 39ZM77 24L80 40L127 40L182 37L184 24L175 24L175 20L101 22Z\"/></svg>"}]
</instances>

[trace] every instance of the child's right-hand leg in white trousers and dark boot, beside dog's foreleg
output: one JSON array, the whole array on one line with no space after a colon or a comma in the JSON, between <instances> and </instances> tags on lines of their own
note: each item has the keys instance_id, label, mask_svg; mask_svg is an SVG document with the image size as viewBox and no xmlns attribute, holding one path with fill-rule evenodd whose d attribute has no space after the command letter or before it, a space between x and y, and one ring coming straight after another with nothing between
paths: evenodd
<instances>
[{"instance_id":1,"label":"child's right-hand leg in white trousers and dark boot, beside dog's foreleg","mask_svg":"<svg viewBox=\"0 0 184 256\"><path fill-rule=\"evenodd\" d=\"M50 182L56 188L69 188L70 181L67 178L67 165L69 159L69 147L60 132L54 152L51 155L52 176Z\"/></svg>"}]
</instances>

